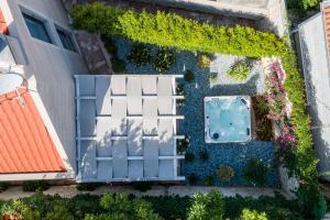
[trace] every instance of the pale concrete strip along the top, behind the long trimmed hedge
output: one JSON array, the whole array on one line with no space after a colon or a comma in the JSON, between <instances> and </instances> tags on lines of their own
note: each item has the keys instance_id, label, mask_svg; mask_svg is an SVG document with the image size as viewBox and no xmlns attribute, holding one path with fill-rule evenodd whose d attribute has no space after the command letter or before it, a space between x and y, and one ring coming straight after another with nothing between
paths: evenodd
<instances>
[{"instance_id":1,"label":"pale concrete strip along the top, behind the long trimmed hedge","mask_svg":"<svg viewBox=\"0 0 330 220\"><path fill-rule=\"evenodd\" d=\"M258 22L261 31L287 33L285 0L133 0L188 11L251 19Z\"/></svg>"}]
</instances>

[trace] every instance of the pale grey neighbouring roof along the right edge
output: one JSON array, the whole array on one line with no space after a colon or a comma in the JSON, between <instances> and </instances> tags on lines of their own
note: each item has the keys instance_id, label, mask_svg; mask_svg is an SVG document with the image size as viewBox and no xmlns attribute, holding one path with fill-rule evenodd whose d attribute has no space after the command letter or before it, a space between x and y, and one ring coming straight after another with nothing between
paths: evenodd
<instances>
[{"instance_id":1,"label":"pale grey neighbouring roof along the right edge","mask_svg":"<svg viewBox=\"0 0 330 220\"><path fill-rule=\"evenodd\" d=\"M330 168L330 72L322 13L299 25L299 53L321 172Z\"/></svg>"}]
</instances>

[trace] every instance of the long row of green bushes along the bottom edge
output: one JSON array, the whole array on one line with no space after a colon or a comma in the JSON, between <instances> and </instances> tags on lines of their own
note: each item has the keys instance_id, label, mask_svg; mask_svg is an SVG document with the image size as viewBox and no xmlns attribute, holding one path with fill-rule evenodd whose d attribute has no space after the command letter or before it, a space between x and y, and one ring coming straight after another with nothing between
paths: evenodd
<instances>
[{"instance_id":1,"label":"long row of green bushes along the bottom edge","mask_svg":"<svg viewBox=\"0 0 330 220\"><path fill-rule=\"evenodd\" d=\"M315 191L310 193L307 195L314 196ZM300 215L300 211L307 210L302 208L300 199L304 201L309 200L302 197L299 197L299 200L286 200L283 196L275 194L275 197L262 196L258 199L252 197L243 198L241 196L222 198L217 193L216 195L196 196L195 198L165 196L138 199L125 194L107 194L102 197L78 195L68 199L37 193L32 197L0 202L0 216L4 213L21 215L24 220L61 220L61 218L65 219L65 217L68 220L72 217L77 220L148 220L160 219L160 217L166 220L176 220L187 219L188 216L195 218L194 213L196 213L202 217L212 215L223 219L239 219L243 209L250 209L265 212L272 220L314 219L308 211L305 213L308 215L306 218L302 218ZM315 210L312 207L317 207L314 204L309 205L311 208L309 210ZM307 204L304 206L307 206Z\"/></svg>"}]
</instances>

